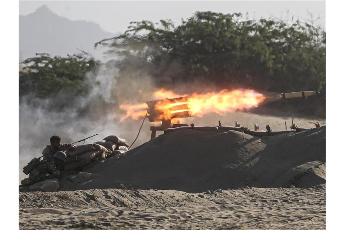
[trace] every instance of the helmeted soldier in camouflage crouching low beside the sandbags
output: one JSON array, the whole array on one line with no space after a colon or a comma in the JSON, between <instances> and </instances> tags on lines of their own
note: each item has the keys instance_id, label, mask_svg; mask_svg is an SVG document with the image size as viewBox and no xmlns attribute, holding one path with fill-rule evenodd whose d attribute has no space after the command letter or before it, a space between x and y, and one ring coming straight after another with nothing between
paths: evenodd
<instances>
[{"instance_id":1,"label":"helmeted soldier in camouflage crouching low beside the sandbags","mask_svg":"<svg viewBox=\"0 0 345 230\"><path fill-rule=\"evenodd\" d=\"M58 151L53 158L42 160L42 162L30 172L30 182L37 183L47 179L59 178L60 170L63 169L66 158L66 153Z\"/></svg>"}]
</instances>

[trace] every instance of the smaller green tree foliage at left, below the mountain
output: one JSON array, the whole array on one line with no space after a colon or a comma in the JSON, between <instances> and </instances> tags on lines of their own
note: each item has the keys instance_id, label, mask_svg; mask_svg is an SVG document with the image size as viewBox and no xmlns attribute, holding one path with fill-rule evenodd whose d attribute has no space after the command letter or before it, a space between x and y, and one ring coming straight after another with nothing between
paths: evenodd
<instances>
[{"instance_id":1,"label":"smaller green tree foliage at left, below the mountain","mask_svg":"<svg viewBox=\"0 0 345 230\"><path fill-rule=\"evenodd\" d=\"M48 98L62 89L75 95L87 92L86 72L99 64L85 52L67 57L38 53L22 63L25 67L19 71L19 96L34 93L38 98Z\"/></svg>"}]
</instances>

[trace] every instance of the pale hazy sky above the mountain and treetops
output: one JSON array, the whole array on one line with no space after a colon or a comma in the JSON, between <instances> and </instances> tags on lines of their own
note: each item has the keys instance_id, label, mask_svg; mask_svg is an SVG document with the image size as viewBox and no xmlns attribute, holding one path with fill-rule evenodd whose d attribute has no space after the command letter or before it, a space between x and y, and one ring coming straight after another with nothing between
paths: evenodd
<instances>
[{"instance_id":1,"label":"pale hazy sky above the mountain and treetops","mask_svg":"<svg viewBox=\"0 0 345 230\"><path fill-rule=\"evenodd\" d=\"M19 1L19 14L27 15L42 5L72 20L98 23L109 32L127 29L130 21L171 19L180 23L195 11L248 12L249 18L275 16L308 20L308 12L325 28L325 1ZM287 13L287 11L289 11Z\"/></svg>"}]
</instances>

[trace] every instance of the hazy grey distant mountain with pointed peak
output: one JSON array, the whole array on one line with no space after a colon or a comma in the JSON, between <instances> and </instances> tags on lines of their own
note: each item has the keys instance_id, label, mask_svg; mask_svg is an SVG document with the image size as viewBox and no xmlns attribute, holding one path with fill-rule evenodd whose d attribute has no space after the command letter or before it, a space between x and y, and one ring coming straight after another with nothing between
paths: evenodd
<instances>
[{"instance_id":1,"label":"hazy grey distant mountain with pointed peak","mask_svg":"<svg viewBox=\"0 0 345 230\"><path fill-rule=\"evenodd\" d=\"M27 16L19 16L19 61L35 53L66 56L77 53L78 49L101 58L102 51L95 50L93 45L114 36L94 22L72 21L43 5Z\"/></svg>"}]
</instances>

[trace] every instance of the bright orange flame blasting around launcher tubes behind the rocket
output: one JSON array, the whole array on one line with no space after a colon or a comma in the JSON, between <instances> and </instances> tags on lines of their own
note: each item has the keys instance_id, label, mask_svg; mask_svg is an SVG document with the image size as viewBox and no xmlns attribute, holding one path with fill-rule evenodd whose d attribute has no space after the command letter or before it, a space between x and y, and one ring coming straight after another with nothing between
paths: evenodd
<instances>
[{"instance_id":1,"label":"bright orange flame blasting around launcher tubes behind the rocket","mask_svg":"<svg viewBox=\"0 0 345 230\"><path fill-rule=\"evenodd\" d=\"M164 88L158 89L153 93L154 99L162 98L177 98L182 97L171 90L165 90ZM228 90L223 89L219 92L208 93L192 93L188 102L174 102L169 100L162 100L161 103L157 103L155 109L157 111L164 112L164 117L161 119L171 119L174 117L174 113L188 112L191 116L202 117L205 113L216 112L224 115L227 112L235 110L245 110L253 107L257 107L265 100L265 96L254 90L249 89L235 89ZM187 107L188 106L188 107ZM121 121L131 117L132 119L139 119L144 117L147 112L146 103L141 104L121 104L120 109L126 111L126 115L121 118ZM172 109L177 108L177 109Z\"/></svg>"}]
</instances>

